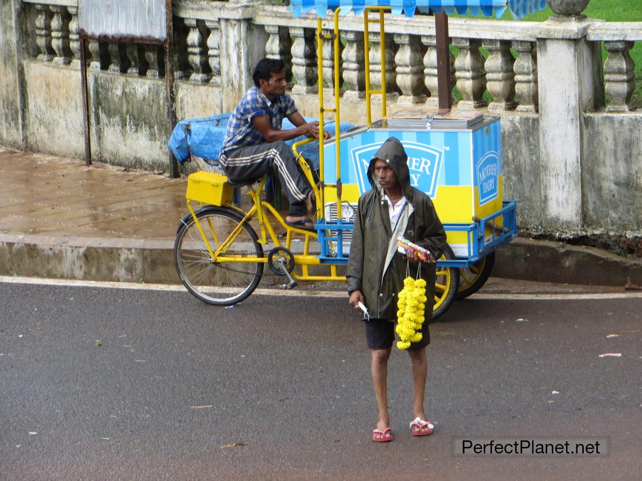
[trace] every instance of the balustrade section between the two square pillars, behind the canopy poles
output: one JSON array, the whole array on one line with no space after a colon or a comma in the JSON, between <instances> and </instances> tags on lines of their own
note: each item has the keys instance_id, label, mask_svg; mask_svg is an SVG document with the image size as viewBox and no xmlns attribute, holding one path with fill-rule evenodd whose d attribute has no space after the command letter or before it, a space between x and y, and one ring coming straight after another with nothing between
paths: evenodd
<instances>
[{"instance_id":1,"label":"balustrade section between the two square pillars, behind the canopy poles","mask_svg":"<svg viewBox=\"0 0 642 481\"><path fill-rule=\"evenodd\" d=\"M427 102L437 105L437 47L433 17L417 15L412 19L388 17L386 21L386 90L397 105ZM328 17L329 18L329 17ZM279 6L266 6L254 17L270 34L268 56L284 53L291 62L295 78L294 94L317 91L316 19L292 19ZM327 28L331 22L326 21ZM365 97L363 19L346 17L341 21L345 47L342 63L333 66L333 47L324 48L324 87L331 87L332 68L339 68L347 99ZM496 112L517 110L537 112L537 54L534 28L525 22L494 22L450 19L449 34L459 53L451 56L453 85L462 99L458 108L487 107ZM526 28L528 27L528 28ZM418 34L417 32L421 32ZM370 31L370 81L375 89L381 84L379 31ZM489 53L484 58L480 49ZM489 92L490 103L484 99ZM516 96L519 101L516 101Z\"/></svg>"}]
</instances>

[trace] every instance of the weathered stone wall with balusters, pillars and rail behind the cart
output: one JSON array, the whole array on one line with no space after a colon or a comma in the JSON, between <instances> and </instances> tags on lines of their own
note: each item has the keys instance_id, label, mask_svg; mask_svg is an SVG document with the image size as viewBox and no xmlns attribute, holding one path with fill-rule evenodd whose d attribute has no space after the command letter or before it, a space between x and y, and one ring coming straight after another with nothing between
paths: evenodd
<instances>
[{"instance_id":1,"label":"weathered stone wall with balusters, pillars and rail behind the cart","mask_svg":"<svg viewBox=\"0 0 642 481\"><path fill-rule=\"evenodd\" d=\"M83 156L77 13L76 0L0 3L7 86L0 91L0 144ZM175 0L173 13L178 119L230 112L253 85L252 69L263 56L284 59L299 110L317 115L314 15L293 18L286 6L258 0ZM642 233L642 196L630 195L642 191L642 114L632 102L629 54L642 41L642 22L609 23L579 13L546 22L449 19L456 106L501 115L504 192L519 201L521 226L562 235ZM323 26L332 28L331 17ZM340 28L339 65L333 44L324 40L322 88L333 102L339 69L342 120L363 124L363 19L347 15ZM385 62L389 109L437 105L433 18L388 15L383 60L381 41L378 31L370 32L370 81L379 88ZM165 170L162 47L89 40L87 62L94 158ZM380 96L373 103L376 117Z\"/></svg>"}]
</instances>

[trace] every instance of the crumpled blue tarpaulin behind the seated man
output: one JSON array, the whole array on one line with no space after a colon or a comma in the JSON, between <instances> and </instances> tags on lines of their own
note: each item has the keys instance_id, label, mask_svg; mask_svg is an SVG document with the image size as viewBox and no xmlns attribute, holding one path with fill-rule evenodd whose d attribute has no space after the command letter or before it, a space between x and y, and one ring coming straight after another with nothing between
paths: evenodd
<instances>
[{"instance_id":1,"label":"crumpled blue tarpaulin behind the seated man","mask_svg":"<svg viewBox=\"0 0 642 481\"><path fill-rule=\"evenodd\" d=\"M168 147L178 162L182 164L188 157L190 152L193 155L202 157L207 164L218 165L218 156L223 146L223 139L225 139L225 129L227 128L227 121L232 114L213 115L212 117L204 117L202 119L188 119L178 122L174 131L169 137ZM312 117L304 117L306 122L315 121ZM288 119L283 119L281 126L283 130L295 128ZM352 130L354 126L345 122L341 122L340 129L342 132ZM325 130L334 135L334 122L325 122ZM305 139L304 135L296 139L287 140L286 144L290 147L300 140ZM304 145L299 152L304 158L318 169L318 141L310 142Z\"/></svg>"}]
</instances>

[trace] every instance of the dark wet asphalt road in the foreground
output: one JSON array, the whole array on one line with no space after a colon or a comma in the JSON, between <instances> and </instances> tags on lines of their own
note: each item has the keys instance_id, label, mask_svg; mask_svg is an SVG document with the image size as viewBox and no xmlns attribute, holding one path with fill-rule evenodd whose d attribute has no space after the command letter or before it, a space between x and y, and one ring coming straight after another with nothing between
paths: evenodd
<instances>
[{"instance_id":1,"label":"dark wet asphalt road in the foreground","mask_svg":"<svg viewBox=\"0 0 642 481\"><path fill-rule=\"evenodd\" d=\"M455 303L431 325L435 433L410 435L410 362L395 351L395 440L375 444L369 351L345 299L225 309L187 292L0 283L0 479L639 480L641 308ZM611 455L453 457L459 435L610 436Z\"/></svg>"}]
</instances>

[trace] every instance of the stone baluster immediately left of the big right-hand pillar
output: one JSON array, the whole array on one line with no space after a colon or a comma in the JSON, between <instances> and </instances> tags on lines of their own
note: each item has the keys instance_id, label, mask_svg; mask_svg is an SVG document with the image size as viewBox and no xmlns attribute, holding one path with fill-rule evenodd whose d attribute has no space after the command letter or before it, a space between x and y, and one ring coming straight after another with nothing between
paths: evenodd
<instances>
[{"instance_id":1,"label":"stone baluster immediately left of the big right-hand pillar","mask_svg":"<svg viewBox=\"0 0 642 481\"><path fill-rule=\"evenodd\" d=\"M537 93L537 48L533 42L513 42L517 60L513 64L515 72L515 94L519 99L517 112L536 114L538 110Z\"/></svg>"}]
</instances>

